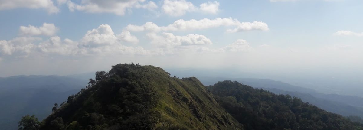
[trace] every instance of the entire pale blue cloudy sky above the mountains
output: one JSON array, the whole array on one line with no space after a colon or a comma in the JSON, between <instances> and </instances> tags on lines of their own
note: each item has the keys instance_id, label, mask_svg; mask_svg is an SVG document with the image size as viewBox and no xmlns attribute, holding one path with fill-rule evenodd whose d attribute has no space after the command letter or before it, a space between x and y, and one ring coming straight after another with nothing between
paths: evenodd
<instances>
[{"instance_id":1,"label":"entire pale blue cloudy sky above the mountains","mask_svg":"<svg viewBox=\"0 0 363 130\"><path fill-rule=\"evenodd\" d=\"M0 77L130 62L359 77L362 7L362 0L0 0Z\"/></svg>"}]
</instances>

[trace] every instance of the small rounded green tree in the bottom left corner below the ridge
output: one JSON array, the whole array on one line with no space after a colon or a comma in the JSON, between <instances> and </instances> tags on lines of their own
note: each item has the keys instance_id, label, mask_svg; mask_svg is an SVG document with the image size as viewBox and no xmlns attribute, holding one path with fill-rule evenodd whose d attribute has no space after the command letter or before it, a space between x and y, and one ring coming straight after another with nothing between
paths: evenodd
<instances>
[{"instance_id":1,"label":"small rounded green tree in the bottom left corner below the ridge","mask_svg":"<svg viewBox=\"0 0 363 130\"><path fill-rule=\"evenodd\" d=\"M19 129L18 130L39 130L40 122L35 115L25 115L21 117L19 121Z\"/></svg>"}]
</instances>

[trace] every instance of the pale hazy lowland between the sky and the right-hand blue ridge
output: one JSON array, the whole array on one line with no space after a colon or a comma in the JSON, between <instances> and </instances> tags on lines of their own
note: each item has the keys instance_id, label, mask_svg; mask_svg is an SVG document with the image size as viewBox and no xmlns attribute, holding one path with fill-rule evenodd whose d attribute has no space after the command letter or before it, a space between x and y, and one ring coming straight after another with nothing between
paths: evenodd
<instances>
[{"instance_id":1,"label":"pale hazy lowland between the sky and the right-hand blue ridge","mask_svg":"<svg viewBox=\"0 0 363 130\"><path fill-rule=\"evenodd\" d=\"M240 67L240 66L239 66ZM178 77L198 77L204 85L213 85L216 81L222 80L234 80L243 78L254 79L273 79L295 86L301 86L310 90L315 90L318 93L330 94L336 93L339 95L349 95L363 98L363 80L361 76L349 74L342 75L342 77L331 76L300 76L294 74L271 74L266 72L247 73L244 71L236 70L235 68L219 68L219 69L207 69L207 68L184 68L184 69L166 69L172 75ZM358 73L356 73L358 74ZM205 80L204 80L205 79ZM214 79L214 80L212 80ZM237 80L238 81L238 80ZM242 81L241 81L242 82ZM290 90L289 90L290 91ZM362 102L360 102L362 103Z\"/></svg>"}]
</instances>

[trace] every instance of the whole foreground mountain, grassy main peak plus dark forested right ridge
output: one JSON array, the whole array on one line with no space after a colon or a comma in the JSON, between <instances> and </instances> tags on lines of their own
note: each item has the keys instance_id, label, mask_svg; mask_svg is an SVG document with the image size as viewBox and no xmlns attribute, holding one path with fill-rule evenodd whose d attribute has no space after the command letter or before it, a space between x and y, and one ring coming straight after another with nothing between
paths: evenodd
<instances>
[{"instance_id":1,"label":"whole foreground mountain, grassy main peak plus dark forested right ridge","mask_svg":"<svg viewBox=\"0 0 363 130\"><path fill-rule=\"evenodd\" d=\"M53 111L40 130L363 130L296 97L133 63L97 72Z\"/></svg>"}]
</instances>

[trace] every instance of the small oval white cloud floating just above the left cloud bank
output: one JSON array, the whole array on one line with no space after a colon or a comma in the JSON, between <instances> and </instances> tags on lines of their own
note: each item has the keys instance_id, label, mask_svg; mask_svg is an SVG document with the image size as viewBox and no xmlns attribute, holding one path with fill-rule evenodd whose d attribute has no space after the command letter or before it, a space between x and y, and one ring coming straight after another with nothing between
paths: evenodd
<instances>
[{"instance_id":1,"label":"small oval white cloud floating just above the left cloud bank","mask_svg":"<svg viewBox=\"0 0 363 130\"><path fill-rule=\"evenodd\" d=\"M28 27L20 26L19 34L20 35L44 35L44 36L53 36L59 29L54 24L43 23L41 27L35 27L33 25L28 25Z\"/></svg>"}]
</instances>

